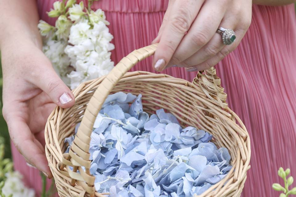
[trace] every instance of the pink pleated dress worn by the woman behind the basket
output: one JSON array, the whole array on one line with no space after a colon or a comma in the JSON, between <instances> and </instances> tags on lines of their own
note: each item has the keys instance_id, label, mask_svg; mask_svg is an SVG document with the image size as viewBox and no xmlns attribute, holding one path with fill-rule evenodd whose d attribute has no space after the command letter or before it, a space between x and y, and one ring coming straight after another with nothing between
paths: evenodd
<instances>
[{"instance_id":1,"label":"pink pleated dress worn by the woman behind the basket","mask_svg":"<svg viewBox=\"0 0 296 197\"><path fill-rule=\"evenodd\" d=\"M54 0L38 0L40 18L54 24L46 12ZM117 63L156 37L168 0L101 0L114 35L112 60ZM151 58L132 70L154 72ZM279 167L296 177L296 16L294 5L253 6L252 24L238 48L217 66L228 103L251 136L251 169L242 196L276 197L272 183L282 183ZM196 73L171 68L164 73L191 81ZM15 168L30 187L41 189L39 172L27 167L13 147Z\"/></svg>"}]
</instances>

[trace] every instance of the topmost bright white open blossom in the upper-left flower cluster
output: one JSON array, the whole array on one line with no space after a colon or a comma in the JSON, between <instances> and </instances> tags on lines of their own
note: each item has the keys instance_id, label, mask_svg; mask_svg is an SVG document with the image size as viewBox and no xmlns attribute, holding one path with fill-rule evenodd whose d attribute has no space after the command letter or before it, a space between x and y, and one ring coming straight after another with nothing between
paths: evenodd
<instances>
[{"instance_id":1,"label":"topmost bright white open blossom in the upper-left flower cluster","mask_svg":"<svg viewBox=\"0 0 296 197\"><path fill-rule=\"evenodd\" d=\"M73 45L79 45L86 41L91 33L89 28L90 25L87 24L87 20L84 22L80 21L72 25L70 29L69 42Z\"/></svg>"}]
</instances>

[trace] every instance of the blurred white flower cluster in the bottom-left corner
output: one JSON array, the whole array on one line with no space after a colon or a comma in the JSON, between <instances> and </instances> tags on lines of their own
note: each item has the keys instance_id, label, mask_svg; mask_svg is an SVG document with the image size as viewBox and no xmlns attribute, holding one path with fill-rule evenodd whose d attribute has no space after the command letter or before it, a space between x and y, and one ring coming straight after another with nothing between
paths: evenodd
<instances>
[{"instance_id":1,"label":"blurred white flower cluster in the bottom-left corner","mask_svg":"<svg viewBox=\"0 0 296 197\"><path fill-rule=\"evenodd\" d=\"M5 196L13 194L13 197L35 197L35 191L25 187L22 175L18 171L6 173L6 181L2 188Z\"/></svg>"}]
</instances>

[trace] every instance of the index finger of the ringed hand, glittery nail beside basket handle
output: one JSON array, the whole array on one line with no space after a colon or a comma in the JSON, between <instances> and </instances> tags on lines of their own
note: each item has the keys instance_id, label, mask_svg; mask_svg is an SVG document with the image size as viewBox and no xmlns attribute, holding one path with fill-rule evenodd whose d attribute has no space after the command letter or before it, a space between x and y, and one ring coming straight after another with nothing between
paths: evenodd
<instances>
[{"instance_id":1,"label":"index finger of the ringed hand, glittery nail beside basket handle","mask_svg":"<svg viewBox=\"0 0 296 197\"><path fill-rule=\"evenodd\" d=\"M153 58L154 69L163 70L196 18L203 1L176 0Z\"/></svg>"}]
</instances>

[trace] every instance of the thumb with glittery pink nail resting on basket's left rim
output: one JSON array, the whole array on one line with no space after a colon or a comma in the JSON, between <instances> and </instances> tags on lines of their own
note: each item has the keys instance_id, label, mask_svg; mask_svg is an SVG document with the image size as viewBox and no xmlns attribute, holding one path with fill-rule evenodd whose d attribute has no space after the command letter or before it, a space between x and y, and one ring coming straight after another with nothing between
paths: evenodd
<instances>
[{"instance_id":1,"label":"thumb with glittery pink nail resting on basket's left rim","mask_svg":"<svg viewBox=\"0 0 296 197\"><path fill-rule=\"evenodd\" d=\"M75 98L72 91L52 67L48 68L47 72L43 71L39 76L39 79L37 79L38 82L35 85L43 90L51 98L53 103L62 108L68 108L74 105Z\"/></svg>"}]
</instances>

